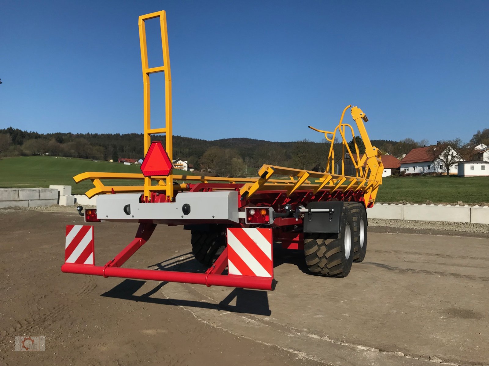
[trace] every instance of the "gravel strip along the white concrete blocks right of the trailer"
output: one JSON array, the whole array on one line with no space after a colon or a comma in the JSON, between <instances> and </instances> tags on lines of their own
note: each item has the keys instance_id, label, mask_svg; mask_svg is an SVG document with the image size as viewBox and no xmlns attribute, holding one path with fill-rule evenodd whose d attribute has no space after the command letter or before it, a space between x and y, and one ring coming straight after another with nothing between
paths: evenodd
<instances>
[{"instance_id":1,"label":"gravel strip along the white concrete blocks right of the trailer","mask_svg":"<svg viewBox=\"0 0 489 366\"><path fill-rule=\"evenodd\" d=\"M465 231L472 233L489 233L489 225L471 223L447 223L442 221L410 221L410 220L388 220L368 219L369 226L396 227L415 230L446 230Z\"/></svg>"}]
</instances>

